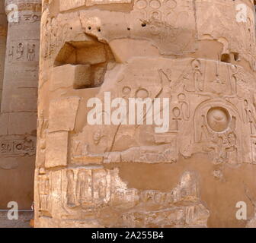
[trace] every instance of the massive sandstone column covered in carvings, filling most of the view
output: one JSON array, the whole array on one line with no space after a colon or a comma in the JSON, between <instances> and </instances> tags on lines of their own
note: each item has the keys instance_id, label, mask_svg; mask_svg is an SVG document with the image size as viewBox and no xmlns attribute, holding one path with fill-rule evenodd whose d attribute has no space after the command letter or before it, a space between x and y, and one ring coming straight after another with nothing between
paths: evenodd
<instances>
[{"instance_id":1,"label":"massive sandstone column covered in carvings, filling most of the view","mask_svg":"<svg viewBox=\"0 0 256 243\"><path fill-rule=\"evenodd\" d=\"M235 205L254 217L254 22L249 0L43 1L35 226L244 227ZM90 125L92 97L168 98L168 129L147 114L111 125L106 107L104 125Z\"/></svg>"}]
</instances>

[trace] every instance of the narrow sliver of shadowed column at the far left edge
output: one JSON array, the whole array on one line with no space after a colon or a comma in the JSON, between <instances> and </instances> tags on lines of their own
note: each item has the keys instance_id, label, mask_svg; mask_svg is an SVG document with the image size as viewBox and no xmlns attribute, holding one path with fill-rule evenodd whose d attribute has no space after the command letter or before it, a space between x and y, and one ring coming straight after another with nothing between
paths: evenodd
<instances>
[{"instance_id":1,"label":"narrow sliver of shadowed column at the far left edge","mask_svg":"<svg viewBox=\"0 0 256 243\"><path fill-rule=\"evenodd\" d=\"M0 104L2 102L2 87L5 72L7 17L5 14L5 2L0 3Z\"/></svg>"}]
</instances>

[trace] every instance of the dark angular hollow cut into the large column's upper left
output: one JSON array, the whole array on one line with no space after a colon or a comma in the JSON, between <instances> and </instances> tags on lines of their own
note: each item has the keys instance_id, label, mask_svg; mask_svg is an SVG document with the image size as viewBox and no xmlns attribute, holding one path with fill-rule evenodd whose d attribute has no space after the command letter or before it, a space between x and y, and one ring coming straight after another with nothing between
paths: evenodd
<instances>
[{"instance_id":1,"label":"dark angular hollow cut into the large column's upper left","mask_svg":"<svg viewBox=\"0 0 256 243\"><path fill-rule=\"evenodd\" d=\"M54 62L55 67L78 65L78 81L74 78L74 89L100 87L104 81L107 64L115 62L110 47L98 41L70 41L59 50Z\"/></svg>"}]
</instances>

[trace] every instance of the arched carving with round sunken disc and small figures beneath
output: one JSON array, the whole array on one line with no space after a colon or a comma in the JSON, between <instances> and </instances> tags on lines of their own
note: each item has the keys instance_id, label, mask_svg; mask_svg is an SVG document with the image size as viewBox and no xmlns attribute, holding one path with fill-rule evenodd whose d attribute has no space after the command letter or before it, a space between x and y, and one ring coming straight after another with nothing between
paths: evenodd
<instances>
[{"instance_id":1,"label":"arched carving with round sunken disc and small figures beneath","mask_svg":"<svg viewBox=\"0 0 256 243\"><path fill-rule=\"evenodd\" d=\"M242 163L241 123L237 109L229 103L202 103L194 117L195 142L212 155L214 163Z\"/></svg>"}]
</instances>

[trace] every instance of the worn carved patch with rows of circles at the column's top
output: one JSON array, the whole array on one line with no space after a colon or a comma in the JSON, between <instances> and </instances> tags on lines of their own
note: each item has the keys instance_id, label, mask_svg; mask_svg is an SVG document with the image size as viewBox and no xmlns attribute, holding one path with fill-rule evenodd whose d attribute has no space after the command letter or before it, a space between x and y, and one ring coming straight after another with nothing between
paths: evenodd
<instances>
[{"instance_id":1,"label":"worn carved patch with rows of circles at the column's top","mask_svg":"<svg viewBox=\"0 0 256 243\"><path fill-rule=\"evenodd\" d=\"M154 40L160 52L178 54L194 49L191 43L195 35L195 19L191 14L193 8L192 2L180 5L174 0L137 0L132 16L149 31L146 36Z\"/></svg>"}]
</instances>

